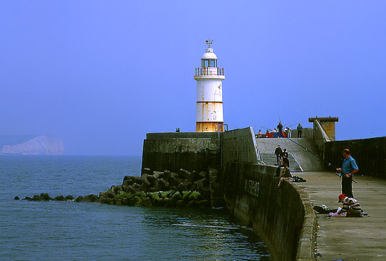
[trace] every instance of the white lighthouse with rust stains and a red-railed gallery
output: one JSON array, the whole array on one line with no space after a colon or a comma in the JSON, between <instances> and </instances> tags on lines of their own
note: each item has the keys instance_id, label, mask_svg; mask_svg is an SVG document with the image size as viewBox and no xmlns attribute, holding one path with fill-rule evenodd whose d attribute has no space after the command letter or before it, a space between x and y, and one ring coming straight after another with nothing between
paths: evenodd
<instances>
[{"instance_id":1,"label":"white lighthouse with rust stains and a red-railed gallery","mask_svg":"<svg viewBox=\"0 0 386 261\"><path fill-rule=\"evenodd\" d=\"M223 132L222 80L224 68L217 67L217 55L210 48L213 40L206 41L208 48L202 55L201 68L196 68L197 124L196 132Z\"/></svg>"}]
</instances>

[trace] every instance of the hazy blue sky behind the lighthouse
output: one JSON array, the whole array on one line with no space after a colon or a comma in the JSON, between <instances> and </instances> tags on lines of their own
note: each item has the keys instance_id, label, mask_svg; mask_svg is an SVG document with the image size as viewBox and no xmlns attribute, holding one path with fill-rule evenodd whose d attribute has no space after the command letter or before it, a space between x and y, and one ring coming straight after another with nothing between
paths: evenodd
<instances>
[{"instance_id":1,"label":"hazy blue sky behind the lighthouse","mask_svg":"<svg viewBox=\"0 0 386 261\"><path fill-rule=\"evenodd\" d=\"M194 132L194 68L213 39L229 129L385 136L386 1L0 1L0 134L66 154L141 155L149 132Z\"/></svg>"}]
</instances>

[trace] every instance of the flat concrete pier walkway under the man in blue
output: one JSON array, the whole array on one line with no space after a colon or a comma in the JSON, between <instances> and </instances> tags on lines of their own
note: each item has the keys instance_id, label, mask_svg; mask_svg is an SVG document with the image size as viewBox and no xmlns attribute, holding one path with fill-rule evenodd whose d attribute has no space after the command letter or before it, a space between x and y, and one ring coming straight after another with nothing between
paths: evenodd
<instances>
[{"instance_id":1,"label":"flat concrete pier walkway under the man in blue","mask_svg":"<svg viewBox=\"0 0 386 261\"><path fill-rule=\"evenodd\" d=\"M329 208L337 203L340 179L331 172L293 173L307 180L296 183L306 190L315 205ZM363 218L331 217L318 214L316 237L317 260L386 260L386 180L355 176L354 197L368 216Z\"/></svg>"}]
</instances>

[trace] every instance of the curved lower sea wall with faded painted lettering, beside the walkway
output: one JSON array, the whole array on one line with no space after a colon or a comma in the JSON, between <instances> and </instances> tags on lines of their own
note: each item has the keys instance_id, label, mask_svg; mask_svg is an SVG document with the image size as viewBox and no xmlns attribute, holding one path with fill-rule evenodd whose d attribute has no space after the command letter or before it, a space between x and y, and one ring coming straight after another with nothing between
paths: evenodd
<instances>
[{"instance_id":1,"label":"curved lower sea wall with faded painted lettering, beside the walkway","mask_svg":"<svg viewBox=\"0 0 386 261\"><path fill-rule=\"evenodd\" d=\"M276 189L276 167L240 162L226 164L226 208L261 235L273 260L314 260L315 213L308 196L284 182Z\"/></svg>"}]
</instances>

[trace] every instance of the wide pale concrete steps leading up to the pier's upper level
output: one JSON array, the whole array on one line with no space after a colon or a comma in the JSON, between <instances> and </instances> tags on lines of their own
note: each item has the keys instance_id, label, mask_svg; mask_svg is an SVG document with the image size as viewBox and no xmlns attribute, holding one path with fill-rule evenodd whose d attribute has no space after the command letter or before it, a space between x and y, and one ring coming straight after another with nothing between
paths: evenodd
<instances>
[{"instance_id":1,"label":"wide pale concrete steps leading up to the pier's upper level","mask_svg":"<svg viewBox=\"0 0 386 261\"><path fill-rule=\"evenodd\" d=\"M291 142L293 140L293 142ZM316 147L313 139L303 138L291 138L278 139L278 138L260 138L256 139L257 147L261 155L261 159L267 165L276 164L275 149L280 145L281 149L287 149L288 159L290 162L291 171L324 171L325 166L323 161L317 156L319 155L318 148ZM304 149L298 144L303 146ZM311 152L309 152L311 151Z\"/></svg>"}]
</instances>

